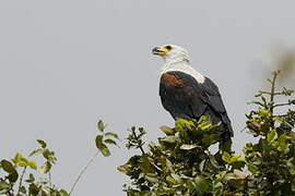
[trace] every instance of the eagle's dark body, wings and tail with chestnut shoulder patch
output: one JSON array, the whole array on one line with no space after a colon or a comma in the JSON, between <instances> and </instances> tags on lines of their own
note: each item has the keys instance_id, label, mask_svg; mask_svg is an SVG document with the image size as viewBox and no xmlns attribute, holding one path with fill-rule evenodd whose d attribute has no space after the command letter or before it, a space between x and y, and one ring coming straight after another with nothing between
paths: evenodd
<instances>
[{"instance_id":1,"label":"eagle's dark body, wings and tail with chestnut shoulder patch","mask_svg":"<svg viewBox=\"0 0 295 196\"><path fill-rule=\"evenodd\" d=\"M163 107L174 119L199 119L208 114L213 123L222 122L221 132L225 140L233 136L217 86L209 78L198 83L184 72L167 72L161 77L160 96Z\"/></svg>"}]
</instances>

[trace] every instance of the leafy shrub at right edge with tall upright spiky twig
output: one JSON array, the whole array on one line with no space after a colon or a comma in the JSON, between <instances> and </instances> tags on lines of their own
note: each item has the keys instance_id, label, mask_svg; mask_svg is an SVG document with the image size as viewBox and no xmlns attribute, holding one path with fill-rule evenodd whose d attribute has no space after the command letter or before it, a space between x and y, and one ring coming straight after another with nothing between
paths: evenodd
<instances>
[{"instance_id":1,"label":"leafy shrub at right edge with tall upright spiky twig","mask_svg":"<svg viewBox=\"0 0 295 196\"><path fill-rule=\"evenodd\" d=\"M248 170L253 180L248 183L249 192L264 195L294 195L295 194L295 135L292 130L295 125L295 111L292 105L295 99L290 98L294 90L275 89L279 71L273 73L270 91L259 91L255 101L258 109L247 114L247 127L257 144L246 144L244 148ZM269 98L267 98L267 96ZM284 102L275 102L275 98ZM285 110L282 107L288 107ZM279 110L280 109L280 110ZM276 112L278 111L278 112ZM285 112L279 112L285 111Z\"/></svg>"}]
</instances>

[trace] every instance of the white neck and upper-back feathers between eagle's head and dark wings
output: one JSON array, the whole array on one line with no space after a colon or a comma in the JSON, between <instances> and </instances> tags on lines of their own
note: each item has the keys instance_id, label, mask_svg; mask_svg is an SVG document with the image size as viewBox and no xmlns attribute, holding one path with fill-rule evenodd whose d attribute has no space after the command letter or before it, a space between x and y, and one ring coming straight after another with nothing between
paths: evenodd
<instances>
[{"instance_id":1,"label":"white neck and upper-back feathers between eagle's head and dark wings","mask_svg":"<svg viewBox=\"0 0 295 196\"><path fill-rule=\"evenodd\" d=\"M166 73L166 72L184 72L186 74L191 75L198 83L203 83L205 77L197 72L190 64L188 63L174 63L174 64L164 64L164 66L161 70L161 73Z\"/></svg>"}]
</instances>

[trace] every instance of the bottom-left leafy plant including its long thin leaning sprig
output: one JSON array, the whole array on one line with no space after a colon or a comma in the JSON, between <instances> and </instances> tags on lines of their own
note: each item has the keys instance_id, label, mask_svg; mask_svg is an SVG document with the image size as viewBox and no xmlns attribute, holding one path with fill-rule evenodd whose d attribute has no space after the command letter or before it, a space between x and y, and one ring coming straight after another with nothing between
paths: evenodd
<instances>
[{"instance_id":1,"label":"bottom-left leafy plant including its long thin leaning sprig","mask_svg":"<svg viewBox=\"0 0 295 196\"><path fill-rule=\"evenodd\" d=\"M110 156L109 145L116 145L119 139L118 135L113 132L105 132L106 124L103 121L97 123L95 144L97 152L88 161L88 163L80 172L71 191L68 193L66 189L57 188L51 182L51 169L57 161L55 151L48 148L46 142L37 139L38 148L34 149L28 158L22 154L15 154L14 158L0 161L0 195L8 196L70 196L73 192L79 180L88 168L90 163L101 152L104 157ZM33 157L40 156L44 159L42 164L37 164L31 160ZM28 172L28 169L31 170ZM1 172L4 172L2 175ZM16 186L16 187L15 187Z\"/></svg>"}]
</instances>

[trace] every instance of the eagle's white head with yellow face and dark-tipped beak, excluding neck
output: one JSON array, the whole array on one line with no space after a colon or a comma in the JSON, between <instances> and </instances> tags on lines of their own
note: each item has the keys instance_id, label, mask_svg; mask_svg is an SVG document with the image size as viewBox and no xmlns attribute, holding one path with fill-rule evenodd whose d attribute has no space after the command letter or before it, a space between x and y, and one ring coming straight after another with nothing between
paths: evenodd
<instances>
[{"instance_id":1,"label":"eagle's white head with yellow face and dark-tipped beak, excluding neck","mask_svg":"<svg viewBox=\"0 0 295 196\"><path fill-rule=\"evenodd\" d=\"M188 51L176 45L163 45L153 49L153 54L161 56L165 63L189 63Z\"/></svg>"}]
</instances>

